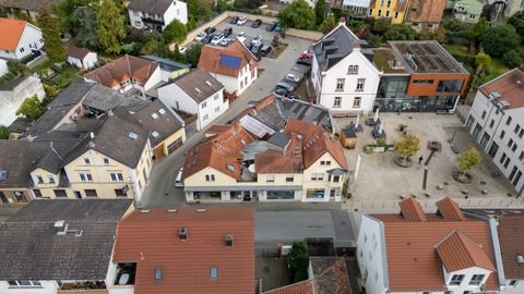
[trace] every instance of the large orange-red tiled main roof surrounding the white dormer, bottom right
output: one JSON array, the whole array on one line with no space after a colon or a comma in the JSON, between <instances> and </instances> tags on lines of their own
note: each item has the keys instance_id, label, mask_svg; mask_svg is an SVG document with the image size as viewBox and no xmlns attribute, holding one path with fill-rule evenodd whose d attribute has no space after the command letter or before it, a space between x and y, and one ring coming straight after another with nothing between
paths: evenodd
<instances>
[{"instance_id":1,"label":"large orange-red tiled main roof surrounding the white dormer, bottom right","mask_svg":"<svg viewBox=\"0 0 524 294\"><path fill-rule=\"evenodd\" d=\"M483 245L495 260L489 226L485 221L466 218L446 220L426 215L427 221L412 221L400 215L371 215L384 223L388 273L392 292L444 291L442 266L434 246L457 230ZM490 274L487 290L497 290L497 275Z\"/></svg>"}]
</instances>

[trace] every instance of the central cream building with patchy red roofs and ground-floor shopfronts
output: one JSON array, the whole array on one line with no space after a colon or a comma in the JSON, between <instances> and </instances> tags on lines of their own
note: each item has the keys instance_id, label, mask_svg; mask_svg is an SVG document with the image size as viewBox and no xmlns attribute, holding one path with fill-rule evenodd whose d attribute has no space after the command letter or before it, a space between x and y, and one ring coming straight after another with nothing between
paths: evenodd
<instances>
[{"instance_id":1,"label":"central cream building with patchy red roofs and ground-floor shopfronts","mask_svg":"<svg viewBox=\"0 0 524 294\"><path fill-rule=\"evenodd\" d=\"M186 154L186 200L340 201L347 163L342 145L321 126L260 118L278 103L263 100L227 130ZM253 115L252 115L253 114Z\"/></svg>"}]
</instances>

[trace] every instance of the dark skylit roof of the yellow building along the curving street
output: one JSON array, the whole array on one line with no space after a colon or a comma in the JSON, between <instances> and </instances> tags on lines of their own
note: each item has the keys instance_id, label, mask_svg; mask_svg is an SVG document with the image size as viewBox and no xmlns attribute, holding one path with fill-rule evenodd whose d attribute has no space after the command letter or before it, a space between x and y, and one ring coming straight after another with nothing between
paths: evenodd
<instances>
[{"instance_id":1,"label":"dark skylit roof of the yellow building along the curving street","mask_svg":"<svg viewBox=\"0 0 524 294\"><path fill-rule=\"evenodd\" d=\"M145 131L150 132L151 145L153 147L183 127L181 119L160 100L155 100L134 113L133 117L142 124Z\"/></svg>"}]
</instances>

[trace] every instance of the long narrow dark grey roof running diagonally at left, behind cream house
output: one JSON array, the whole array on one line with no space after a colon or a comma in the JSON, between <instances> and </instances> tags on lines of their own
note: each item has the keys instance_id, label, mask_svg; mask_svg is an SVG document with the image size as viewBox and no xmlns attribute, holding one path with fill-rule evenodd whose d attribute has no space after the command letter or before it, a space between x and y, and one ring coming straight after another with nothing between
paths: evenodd
<instances>
[{"instance_id":1,"label":"long narrow dark grey roof running diagonally at left, behind cream house","mask_svg":"<svg viewBox=\"0 0 524 294\"><path fill-rule=\"evenodd\" d=\"M29 127L29 135L35 137L51 131L63 119L66 113L82 101L94 85L81 81L71 83L49 103L46 112Z\"/></svg>"}]
</instances>

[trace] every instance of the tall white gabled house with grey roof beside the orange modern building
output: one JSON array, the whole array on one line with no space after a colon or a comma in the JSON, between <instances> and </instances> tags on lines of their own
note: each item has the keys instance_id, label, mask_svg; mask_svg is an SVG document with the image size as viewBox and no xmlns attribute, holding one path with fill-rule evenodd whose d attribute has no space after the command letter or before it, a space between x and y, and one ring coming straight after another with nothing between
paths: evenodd
<instances>
[{"instance_id":1,"label":"tall white gabled house with grey roof beside the orange modern building","mask_svg":"<svg viewBox=\"0 0 524 294\"><path fill-rule=\"evenodd\" d=\"M311 83L317 103L333 115L372 112L380 81L372 54L367 42L341 19L333 30L313 44Z\"/></svg>"}]
</instances>

